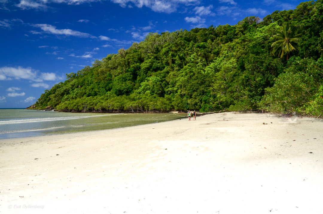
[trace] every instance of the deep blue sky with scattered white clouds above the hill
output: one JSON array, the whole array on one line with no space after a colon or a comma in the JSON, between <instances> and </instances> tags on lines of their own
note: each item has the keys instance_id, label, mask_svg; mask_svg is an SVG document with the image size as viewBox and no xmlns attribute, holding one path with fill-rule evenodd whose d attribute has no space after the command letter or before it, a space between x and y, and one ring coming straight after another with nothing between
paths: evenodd
<instances>
[{"instance_id":1,"label":"deep blue sky with scattered white clouds above the hill","mask_svg":"<svg viewBox=\"0 0 323 214\"><path fill-rule=\"evenodd\" d=\"M66 73L149 32L235 25L295 9L290 0L0 0L0 108L25 108Z\"/></svg>"}]
</instances>

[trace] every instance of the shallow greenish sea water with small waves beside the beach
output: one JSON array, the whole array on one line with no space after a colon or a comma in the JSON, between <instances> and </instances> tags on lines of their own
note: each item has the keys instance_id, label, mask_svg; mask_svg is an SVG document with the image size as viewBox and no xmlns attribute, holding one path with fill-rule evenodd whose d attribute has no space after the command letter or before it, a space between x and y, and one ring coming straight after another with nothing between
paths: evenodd
<instances>
[{"instance_id":1,"label":"shallow greenish sea water with small waves beside the beach","mask_svg":"<svg viewBox=\"0 0 323 214\"><path fill-rule=\"evenodd\" d=\"M114 129L184 118L174 113L69 113L0 109L0 139Z\"/></svg>"}]
</instances>

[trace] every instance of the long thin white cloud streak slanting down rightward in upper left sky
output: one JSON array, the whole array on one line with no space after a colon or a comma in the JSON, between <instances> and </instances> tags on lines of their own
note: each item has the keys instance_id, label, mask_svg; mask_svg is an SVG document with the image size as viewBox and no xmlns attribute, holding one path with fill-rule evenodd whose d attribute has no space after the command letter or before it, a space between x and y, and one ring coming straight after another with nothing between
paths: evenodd
<instances>
[{"instance_id":1,"label":"long thin white cloud streak slanting down rightward in upper left sky","mask_svg":"<svg viewBox=\"0 0 323 214\"><path fill-rule=\"evenodd\" d=\"M55 35L65 35L65 36L75 36L75 37L83 37L83 38L96 38L88 33L82 33L76 30L71 29L57 29L56 26L47 25L47 24L32 24L33 27L39 27L45 33L55 34ZM39 32L31 32L33 34L38 34Z\"/></svg>"}]
</instances>

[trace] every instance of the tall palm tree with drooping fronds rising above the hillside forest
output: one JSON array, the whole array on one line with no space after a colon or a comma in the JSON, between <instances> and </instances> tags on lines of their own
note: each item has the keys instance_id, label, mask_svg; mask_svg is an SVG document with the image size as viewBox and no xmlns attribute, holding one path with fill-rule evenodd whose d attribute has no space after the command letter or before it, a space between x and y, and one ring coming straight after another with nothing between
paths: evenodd
<instances>
[{"instance_id":1,"label":"tall palm tree with drooping fronds rising above the hillside forest","mask_svg":"<svg viewBox=\"0 0 323 214\"><path fill-rule=\"evenodd\" d=\"M272 53L276 55L279 50L278 56L283 58L283 56L287 54L288 60L288 56L290 56L292 52L299 51L297 45L299 39L297 37L300 35L301 34L293 35L293 31L289 26L289 23L283 24L277 34L273 37L274 39L277 39L277 41L271 45L273 48Z\"/></svg>"}]
</instances>

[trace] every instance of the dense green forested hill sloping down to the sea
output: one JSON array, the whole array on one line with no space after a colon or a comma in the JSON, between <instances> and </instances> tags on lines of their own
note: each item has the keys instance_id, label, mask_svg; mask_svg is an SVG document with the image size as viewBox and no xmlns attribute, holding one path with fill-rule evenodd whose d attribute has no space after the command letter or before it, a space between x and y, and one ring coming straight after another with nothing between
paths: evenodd
<instances>
[{"instance_id":1,"label":"dense green forested hill sloping down to the sea","mask_svg":"<svg viewBox=\"0 0 323 214\"><path fill-rule=\"evenodd\" d=\"M323 116L323 5L236 25L149 33L66 74L30 109L64 112L250 111Z\"/></svg>"}]
</instances>

